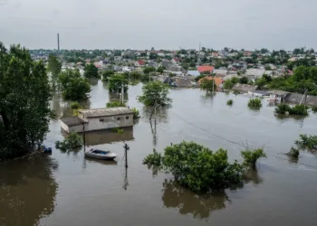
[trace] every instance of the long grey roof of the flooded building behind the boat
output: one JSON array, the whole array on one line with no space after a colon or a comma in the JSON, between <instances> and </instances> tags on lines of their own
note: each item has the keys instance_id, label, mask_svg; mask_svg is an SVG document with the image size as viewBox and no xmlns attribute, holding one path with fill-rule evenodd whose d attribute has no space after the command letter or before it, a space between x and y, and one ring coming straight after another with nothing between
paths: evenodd
<instances>
[{"instance_id":1,"label":"long grey roof of the flooded building behind the boat","mask_svg":"<svg viewBox=\"0 0 317 226\"><path fill-rule=\"evenodd\" d=\"M79 112L85 118L94 118L94 117L105 117L105 116L117 116L125 114L133 114L133 110L125 107L118 108L95 108L88 110L79 110Z\"/></svg>"}]
</instances>

